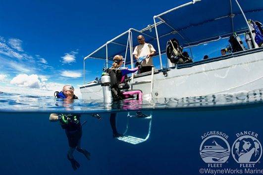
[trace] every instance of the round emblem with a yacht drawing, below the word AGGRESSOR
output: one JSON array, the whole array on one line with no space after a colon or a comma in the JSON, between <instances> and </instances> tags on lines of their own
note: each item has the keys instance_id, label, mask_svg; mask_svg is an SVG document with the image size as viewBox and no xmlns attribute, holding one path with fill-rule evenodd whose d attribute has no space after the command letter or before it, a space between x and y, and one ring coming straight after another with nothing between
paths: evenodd
<instances>
[{"instance_id":1,"label":"round emblem with a yacht drawing, below the word AGGRESSOR","mask_svg":"<svg viewBox=\"0 0 263 175\"><path fill-rule=\"evenodd\" d=\"M200 156L206 163L225 163L230 155L230 146L224 137L210 135L200 145Z\"/></svg>"}]
</instances>

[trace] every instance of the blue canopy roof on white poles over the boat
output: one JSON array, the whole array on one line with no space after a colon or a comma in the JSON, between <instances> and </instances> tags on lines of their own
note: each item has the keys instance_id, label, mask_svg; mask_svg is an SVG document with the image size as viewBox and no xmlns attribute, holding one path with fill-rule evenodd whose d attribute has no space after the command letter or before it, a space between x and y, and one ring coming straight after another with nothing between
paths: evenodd
<instances>
[{"instance_id":1,"label":"blue canopy roof on white poles over the boat","mask_svg":"<svg viewBox=\"0 0 263 175\"><path fill-rule=\"evenodd\" d=\"M153 24L140 31L130 29L89 54L84 60L112 60L114 55L121 54L126 55L128 64L132 56L130 49L134 49L138 44L138 35L143 35L146 43L153 44L158 52L164 53L167 41L172 38L176 38L180 45L186 47L229 37L234 32L244 33L248 30L248 23L238 5L247 19L263 21L263 0L193 0L154 16L156 28Z\"/></svg>"}]
</instances>

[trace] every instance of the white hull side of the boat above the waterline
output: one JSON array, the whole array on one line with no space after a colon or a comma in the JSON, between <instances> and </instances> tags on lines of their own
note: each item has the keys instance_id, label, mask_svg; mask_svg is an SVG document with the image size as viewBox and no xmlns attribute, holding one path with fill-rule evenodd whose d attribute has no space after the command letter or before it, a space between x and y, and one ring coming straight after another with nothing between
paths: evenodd
<instances>
[{"instance_id":1,"label":"white hull side of the boat above the waterline","mask_svg":"<svg viewBox=\"0 0 263 175\"><path fill-rule=\"evenodd\" d=\"M130 87L142 90L143 99L252 91L263 88L262 67L263 48L257 48L168 68L166 77L158 70L135 75ZM99 82L86 84L80 90L83 99L103 99Z\"/></svg>"}]
</instances>

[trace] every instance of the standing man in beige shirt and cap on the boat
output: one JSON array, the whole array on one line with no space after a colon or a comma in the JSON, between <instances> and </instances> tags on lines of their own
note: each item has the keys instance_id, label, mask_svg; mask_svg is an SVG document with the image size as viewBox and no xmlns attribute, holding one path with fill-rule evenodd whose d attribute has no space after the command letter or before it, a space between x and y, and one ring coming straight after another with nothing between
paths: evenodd
<instances>
[{"instance_id":1,"label":"standing man in beige shirt and cap on the boat","mask_svg":"<svg viewBox=\"0 0 263 175\"><path fill-rule=\"evenodd\" d=\"M144 36L139 35L137 37L139 45L137 45L133 51L133 55L138 62L141 62L140 73L148 72L152 70L153 56L155 55L155 48L152 44L145 43Z\"/></svg>"}]
</instances>

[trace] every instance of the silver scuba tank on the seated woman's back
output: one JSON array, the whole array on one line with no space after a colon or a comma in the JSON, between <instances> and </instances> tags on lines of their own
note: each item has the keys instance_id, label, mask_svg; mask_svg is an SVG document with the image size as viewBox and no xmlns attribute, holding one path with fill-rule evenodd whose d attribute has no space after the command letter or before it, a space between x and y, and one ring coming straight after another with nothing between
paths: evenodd
<instances>
[{"instance_id":1,"label":"silver scuba tank on the seated woman's back","mask_svg":"<svg viewBox=\"0 0 263 175\"><path fill-rule=\"evenodd\" d=\"M110 76L108 73L102 75L102 89L103 89L103 99L105 103L111 103L111 91L110 91Z\"/></svg>"}]
</instances>

